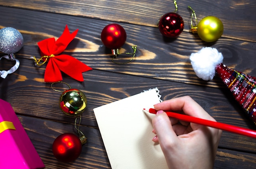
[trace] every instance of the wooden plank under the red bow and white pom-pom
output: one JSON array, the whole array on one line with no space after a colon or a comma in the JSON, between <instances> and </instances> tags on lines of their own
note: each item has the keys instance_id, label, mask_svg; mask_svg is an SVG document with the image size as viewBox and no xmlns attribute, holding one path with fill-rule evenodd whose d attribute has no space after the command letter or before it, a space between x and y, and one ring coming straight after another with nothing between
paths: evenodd
<instances>
[{"instance_id":1,"label":"wooden plank under the red bow and white pom-pom","mask_svg":"<svg viewBox=\"0 0 256 169\"><path fill-rule=\"evenodd\" d=\"M7 21L3 22L1 27L15 27L24 36L25 46L18 53L18 57L36 56L39 58L36 43L49 37L59 37L65 24L68 24L70 31L79 29L79 33L65 53L78 58L94 69L223 87L223 83L218 80L207 82L195 75L189 56L209 44L198 39L195 41L194 35L190 33L183 33L175 40L166 40L159 35L156 28L122 24L128 38L121 51L130 51L130 45L135 44L138 46L138 52L134 61L120 66L112 63L111 51L103 46L100 39L103 27L111 22L21 9L11 9L10 13L10 8L0 7L0 9L2 11L0 19ZM95 29L96 25L97 29ZM222 52L223 63L230 68L256 76L256 60L253 59L256 50L254 42L221 38L210 46Z\"/></svg>"}]
</instances>

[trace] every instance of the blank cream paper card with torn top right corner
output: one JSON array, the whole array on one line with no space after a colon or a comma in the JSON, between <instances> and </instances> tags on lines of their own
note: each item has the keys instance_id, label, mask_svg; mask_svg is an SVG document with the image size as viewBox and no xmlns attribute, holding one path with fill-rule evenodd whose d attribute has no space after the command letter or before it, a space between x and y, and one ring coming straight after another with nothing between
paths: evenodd
<instances>
[{"instance_id":1,"label":"blank cream paper card with torn top right corner","mask_svg":"<svg viewBox=\"0 0 256 169\"><path fill-rule=\"evenodd\" d=\"M155 114L143 112L159 102L153 89L94 108L112 169L168 169L160 145L152 141Z\"/></svg>"}]
</instances>

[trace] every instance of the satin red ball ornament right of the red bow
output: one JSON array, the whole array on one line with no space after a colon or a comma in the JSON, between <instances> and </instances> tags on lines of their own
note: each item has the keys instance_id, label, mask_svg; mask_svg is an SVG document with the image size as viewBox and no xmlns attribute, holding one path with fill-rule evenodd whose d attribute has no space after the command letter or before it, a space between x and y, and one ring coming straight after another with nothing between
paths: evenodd
<instances>
[{"instance_id":1,"label":"satin red ball ornament right of the red bow","mask_svg":"<svg viewBox=\"0 0 256 169\"><path fill-rule=\"evenodd\" d=\"M126 31L119 24L108 24L101 31L101 41L110 49L119 49L126 42Z\"/></svg>"}]
</instances>

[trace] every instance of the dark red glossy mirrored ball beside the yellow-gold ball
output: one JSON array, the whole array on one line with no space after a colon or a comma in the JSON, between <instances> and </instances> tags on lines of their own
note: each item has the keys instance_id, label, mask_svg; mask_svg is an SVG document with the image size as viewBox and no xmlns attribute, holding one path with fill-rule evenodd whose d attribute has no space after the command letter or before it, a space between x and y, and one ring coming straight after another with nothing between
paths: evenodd
<instances>
[{"instance_id":1,"label":"dark red glossy mirrored ball beside the yellow-gold ball","mask_svg":"<svg viewBox=\"0 0 256 169\"><path fill-rule=\"evenodd\" d=\"M177 37L184 29L184 21L177 13L166 13L160 18L158 28L166 37Z\"/></svg>"}]
</instances>

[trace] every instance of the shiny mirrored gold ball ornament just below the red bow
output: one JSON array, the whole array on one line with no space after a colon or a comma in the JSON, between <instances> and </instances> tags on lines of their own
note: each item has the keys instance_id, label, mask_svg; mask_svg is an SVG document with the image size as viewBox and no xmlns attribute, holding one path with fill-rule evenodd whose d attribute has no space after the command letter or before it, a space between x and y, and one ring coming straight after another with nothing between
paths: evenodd
<instances>
[{"instance_id":1,"label":"shiny mirrored gold ball ornament just below the red bow","mask_svg":"<svg viewBox=\"0 0 256 169\"><path fill-rule=\"evenodd\" d=\"M87 107L85 94L78 89L65 90L59 99L61 111L68 116L79 116Z\"/></svg>"}]
</instances>

